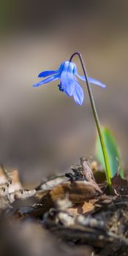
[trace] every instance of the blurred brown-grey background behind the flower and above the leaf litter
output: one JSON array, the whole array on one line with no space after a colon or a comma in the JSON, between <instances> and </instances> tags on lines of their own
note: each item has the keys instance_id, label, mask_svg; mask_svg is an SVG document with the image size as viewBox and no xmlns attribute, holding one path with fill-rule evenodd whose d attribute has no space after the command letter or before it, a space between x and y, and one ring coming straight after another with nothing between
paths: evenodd
<instances>
[{"instance_id":1,"label":"blurred brown-grey background behind the flower and above the leaf litter","mask_svg":"<svg viewBox=\"0 0 128 256\"><path fill-rule=\"evenodd\" d=\"M58 69L74 51L86 61L99 120L110 128L127 167L128 1L0 1L0 162L24 183L68 170L95 155L96 127L86 86L75 105L58 81L34 89L37 75ZM82 70L77 58L79 73Z\"/></svg>"}]
</instances>

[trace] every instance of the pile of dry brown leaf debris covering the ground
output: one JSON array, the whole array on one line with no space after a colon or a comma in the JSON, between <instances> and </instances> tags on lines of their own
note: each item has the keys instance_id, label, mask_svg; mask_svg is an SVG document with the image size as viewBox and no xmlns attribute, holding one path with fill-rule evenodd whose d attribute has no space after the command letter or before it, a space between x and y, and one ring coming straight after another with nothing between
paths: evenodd
<instances>
[{"instance_id":1,"label":"pile of dry brown leaf debris covering the ground","mask_svg":"<svg viewBox=\"0 0 128 256\"><path fill-rule=\"evenodd\" d=\"M1 255L128 255L127 180L114 176L109 195L86 159L71 170L24 189L0 167Z\"/></svg>"}]
</instances>

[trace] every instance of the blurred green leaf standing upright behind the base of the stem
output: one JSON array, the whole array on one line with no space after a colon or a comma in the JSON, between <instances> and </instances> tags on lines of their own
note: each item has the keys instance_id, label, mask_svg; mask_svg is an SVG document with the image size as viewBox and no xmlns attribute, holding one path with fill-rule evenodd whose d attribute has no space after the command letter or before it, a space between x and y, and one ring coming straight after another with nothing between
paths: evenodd
<instances>
[{"instance_id":1,"label":"blurred green leaf standing upright behind the base of the stem","mask_svg":"<svg viewBox=\"0 0 128 256\"><path fill-rule=\"evenodd\" d=\"M108 154L108 161L110 164L111 176L113 177L118 171L121 177L124 178L124 170L122 169L121 166L119 166L121 165L121 155L116 143L116 139L114 138L112 132L110 132L109 129L104 127L102 128L102 136L103 136L106 151ZM102 167L105 169L104 157L102 154L102 148L101 148L98 135L97 135L96 147L97 147L97 159L99 163L102 165Z\"/></svg>"}]
</instances>

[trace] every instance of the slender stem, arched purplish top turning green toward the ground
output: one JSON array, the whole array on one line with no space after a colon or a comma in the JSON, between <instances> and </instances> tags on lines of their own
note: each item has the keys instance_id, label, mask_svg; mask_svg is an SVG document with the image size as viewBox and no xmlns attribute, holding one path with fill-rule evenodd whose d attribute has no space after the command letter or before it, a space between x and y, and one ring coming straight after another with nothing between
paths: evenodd
<instances>
[{"instance_id":1,"label":"slender stem, arched purplish top turning green toward the ground","mask_svg":"<svg viewBox=\"0 0 128 256\"><path fill-rule=\"evenodd\" d=\"M100 127L100 124L99 124L99 118L98 118L97 109L96 109L96 106L95 106L95 103L94 103L94 97L93 97L92 92L91 92L91 86L90 86L90 83L89 83L89 78L88 78L88 75L87 75L87 72L86 72L86 67L84 65L82 55L80 53L78 53L78 52L73 53L71 58L69 59L69 61L72 61L72 58L75 55L78 55L78 57L80 59L81 66L83 68L83 73L84 73L85 78L86 78L86 85L87 85L87 89L88 89L88 92L89 92L89 98L90 98L90 101L91 101L91 108L92 108L93 113L94 113L94 120L95 120L96 125L97 125L99 140L100 140L100 143L101 143L101 146L102 146L102 153L103 153L104 160L105 160L106 178L107 178L107 181L108 181L108 186L110 187L111 186L110 165L109 165L109 162L108 162L108 155L107 155L107 151L106 151L106 148L105 148L105 143L104 143L104 140L103 140L103 137L102 137L102 130L101 130L101 127Z\"/></svg>"}]
</instances>

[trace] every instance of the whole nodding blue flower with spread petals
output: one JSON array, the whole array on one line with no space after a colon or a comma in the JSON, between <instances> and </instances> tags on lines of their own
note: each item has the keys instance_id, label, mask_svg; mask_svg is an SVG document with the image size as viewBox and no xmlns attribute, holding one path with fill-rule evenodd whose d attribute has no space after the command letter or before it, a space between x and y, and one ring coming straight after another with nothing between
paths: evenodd
<instances>
[{"instance_id":1,"label":"whole nodding blue flower with spread petals","mask_svg":"<svg viewBox=\"0 0 128 256\"><path fill-rule=\"evenodd\" d=\"M80 80L83 81L85 81L86 79L84 76L78 75L75 63L71 61L64 61L61 63L59 69L41 72L38 77L45 79L41 80L39 83L34 84L34 87L41 86L44 83L49 83L50 81L60 79L59 90L64 91L67 96L73 97L78 105L83 104L83 89L78 83L76 77L80 78ZM105 84L100 83L98 80L95 80L93 78L89 78L89 82L105 88Z\"/></svg>"}]
</instances>

